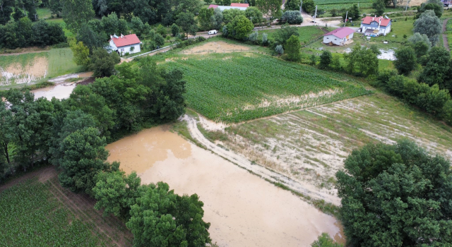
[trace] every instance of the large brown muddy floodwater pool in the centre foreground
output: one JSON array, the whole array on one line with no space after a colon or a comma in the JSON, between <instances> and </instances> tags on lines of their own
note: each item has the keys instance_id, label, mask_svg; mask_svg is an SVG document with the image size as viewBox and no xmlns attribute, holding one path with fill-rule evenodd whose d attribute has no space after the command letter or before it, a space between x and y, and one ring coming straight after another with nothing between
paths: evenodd
<instances>
[{"instance_id":1,"label":"large brown muddy floodwater pool in the centre foreground","mask_svg":"<svg viewBox=\"0 0 452 247\"><path fill-rule=\"evenodd\" d=\"M343 243L339 222L292 193L160 126L107 145L109 161L143 183L197 193L219 246L309 246L322 232Z\"/></svg>"}]
</instances>

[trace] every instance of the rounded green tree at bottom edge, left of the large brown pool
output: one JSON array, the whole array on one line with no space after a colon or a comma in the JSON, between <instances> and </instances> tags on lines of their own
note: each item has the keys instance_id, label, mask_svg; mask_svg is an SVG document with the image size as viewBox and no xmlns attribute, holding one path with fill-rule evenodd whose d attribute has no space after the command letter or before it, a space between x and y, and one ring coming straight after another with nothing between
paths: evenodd
<instances>
[{"instance_id":1,"label":"rounded green tree at bottom edge, left of the large brown pool","mask_svg":"<svg viewBox=\"0 0 452 247\"><path fill-rule=\"evenodd\" d=\"M126 223L133 246L206 246L210 224L203 222L202 207L198 195L176 195L167 183L145 186Z\"/></svg>"}]
</instances>

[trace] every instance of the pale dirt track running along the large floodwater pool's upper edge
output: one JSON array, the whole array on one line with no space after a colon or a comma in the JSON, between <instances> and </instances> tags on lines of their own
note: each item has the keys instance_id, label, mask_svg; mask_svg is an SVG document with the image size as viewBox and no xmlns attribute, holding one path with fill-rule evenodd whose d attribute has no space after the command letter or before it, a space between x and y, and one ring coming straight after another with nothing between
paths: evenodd
<instances>
[{"instance_id":1,"label":"pale dirt track running along the large floodwater pool's upper edge","mask_svg":"<svg viewBox=\"0 0 452 247\"><path fill-rule=\"evenodd\" d=\"M204 137L201 131L198 130L198 127L196 126L197 121L195 119L187 115L184 115L183 120L185 120L188 123L190 135L193 138L195 138L199 143L206 146L208 150L214 152L216 155L219 155L220 157L223 157L229 160L230 162L237 164L239 167L242 167L248 171L253 172L257 176L261 176L261 178L267 179L270 182L281 183L284 186L287 186L288 188L292 189L293 191L297 191L298 193L302 193L303 195L307 195L311 198L325 200L327 203L333 203L334 205L340 205L340 199L338 197L335 197L328 193L316 191L314 186L308 183L302 184L297 181L293 181L292 179L287 178L287 176L283 176L275 171L271 171L269 169L261 167L258 164L250 162L242 155L238 155L229 150L225 150L222 147L218 147L217 145L215 145L215 143L210 142L210 140Z\"/></svg>"}]
</instances>

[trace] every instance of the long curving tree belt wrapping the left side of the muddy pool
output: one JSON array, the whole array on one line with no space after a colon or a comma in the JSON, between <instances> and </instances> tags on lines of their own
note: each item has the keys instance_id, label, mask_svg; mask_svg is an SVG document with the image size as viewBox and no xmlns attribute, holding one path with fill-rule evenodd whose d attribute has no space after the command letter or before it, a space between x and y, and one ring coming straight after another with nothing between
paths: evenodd
<instances>
[{"instance_id":1,"label":"long curving tree belt wrapping the left side of the muddy pool","mask_svg":"<svg viewBox=\"0 0 452 247\"><path fill-rule=\"evenodd\" d=\"M2 92L2 178L37 163L58 167L62 186L96 198L97 209L126 220L135 246L210 243L198 195L176 195L166 183L141 185L119 163L107 162L107 142L184 113L182 71L157 68L152 58L117 66L117 75L78 85L67 100L35 100L26 90Z\"/></svg>"}]
</instances>

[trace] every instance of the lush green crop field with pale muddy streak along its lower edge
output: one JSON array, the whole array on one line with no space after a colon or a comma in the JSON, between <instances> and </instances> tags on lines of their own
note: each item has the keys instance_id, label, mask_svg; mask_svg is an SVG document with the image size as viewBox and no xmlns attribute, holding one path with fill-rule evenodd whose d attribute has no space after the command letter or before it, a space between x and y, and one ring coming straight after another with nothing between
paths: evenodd
<instances>
[{"instance_id":1,"label":"lush green crop field with pale muddy streak along its lower edge","mask_svg":"<svg viewBox=\"0 0 452 247\"><path fill-rule=\"evenodd\" d=\"M369 93L362 86L328 77L332 73L253 53L172 56L166 61L163 66L184 71L188 107L226 123Z\"/></svg>"}]
</instances>

